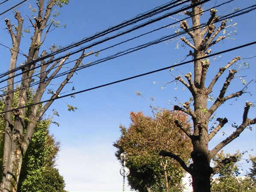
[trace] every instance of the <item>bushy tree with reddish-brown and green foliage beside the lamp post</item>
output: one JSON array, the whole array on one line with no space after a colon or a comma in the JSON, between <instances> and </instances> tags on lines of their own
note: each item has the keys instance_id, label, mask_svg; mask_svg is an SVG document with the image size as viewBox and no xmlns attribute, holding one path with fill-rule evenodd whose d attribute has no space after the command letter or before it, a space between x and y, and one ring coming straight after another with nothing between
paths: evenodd
<instances>
[{"instance_id":1,"label":"bushy tree with reddish-brown and green foliage beside the lamp post","mask_svg":"<svg viewBox=\"0 0 256 192\"><path fill-rule=\"evenodd\" d=\"M120 154L127 152L126 166L131 170L128 183L131 189L139 192L171 192L183 189L181 179L184 171L178 163L158 155L161 148L175 151L184 160L191 152L189 138L175 125L179 119L181 125L189 131L187 116L181 112L159 111L154 117L142 112L131 112L129 128L120 126L121 137L113 145L120 160Z\"/></svg>"}]
</instances>

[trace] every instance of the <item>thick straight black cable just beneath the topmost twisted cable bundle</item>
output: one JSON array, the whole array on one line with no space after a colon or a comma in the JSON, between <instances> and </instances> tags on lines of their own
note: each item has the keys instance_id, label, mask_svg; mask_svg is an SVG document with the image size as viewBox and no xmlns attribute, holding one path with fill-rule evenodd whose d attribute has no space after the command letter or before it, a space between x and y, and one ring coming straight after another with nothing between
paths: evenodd
<instances>
[{"instance_id":1,"label":"thick straight black cable just beneath the topmost twisted cable bundle","mask_svg":"<svg viewBox=\"0 0 256 192\"><path fill-rule=\"evenodd\" d=\"M139 26L135 26L135 27L133 27L133 28L131 28L131 29L128 29L128 30L122 32L122 33L119 32L119 33L116 34L116 35L113 35L113 36L108 37L108 38L105 38L105 39L103 39L103 40L94 42L93 44L90 44L90 45L88 45L87 47L82 47L82 48L80 48L80 49L78 49L78 50L76 50L76 51L70 52L70 53L68 54L68 56L74 55L74 54L76 54L76 53L78 53L78 52L81 52L81 51L84 50L84 49L89 49L90 47L93 47L93 46L98 45L98 44L102 44L102 43L104 43L105 41L109 41L109 40L111 40L111 39L113 39L113 38L116 38L116 37L119 37L119 36L121 36L121 35L127 34L127 33L129 33L129 32L134 31L134 30L140 29L140 28L142 28L142 27L144 27L144 26L146 26L146 25L149 25L149 24L154 23L154 22L156 22L156 21L162 20L163 18L169 17L169 16L171 16L171 15L175 15L175 14L177 14L177 13L179 13L179 12L182 12L182 11L185 11L185 10L190 9L190 8L192 8L192 7L201 5L202 3L205 3L205 2L207 2L207 1L209 1L209 0L204 0L204 1L200 2L200 3L195 3L195 4L193 4L193 5L186 6L186 7L183 8L183 9L179 9L179 10L177 10L177 11L175 11L175 12L171 12L171 13L165 14L165 15L163 15L163 16L161 16L161 17L157 17L156 19L149 20L149 21L146 22L146 23L143 23L143 24L141 24L141 25L139 25ZM50 62L58 61L59 59L65 58L66 56L67 56L67 55L60 56L60 57L58 57L58 58L53 59L53 60L50 61ZM31 62L27 63L26 65L23 65L22 67L17 67L17 68L15 68L15 70L11 70L11 71L9 71L9 72L6 72L6 74L1 75L0 78L2 78L3 76L8 75L9 73L13 73L13 72L15 72L16 70L19 70L19 69L21 69L21 68L23 68L23 67L25 67L25 66L28 66L29 64L36 63L36 62L41 61L41 60L43 60L43 59L44 59L44 57L41 57L41 58L38 58L38 59L36 59L36 60L34 60L34 61L31 61ZM45 64L49 64L49 62L46 62ZM44 64L44 65L45 65L45 64ZM35 70L35 69L37 69L37 68L39 68L39 67L40 67L40 66L34 67L33 69L29 69L29 70ZM16 74L16 75L12 76L12 77L9 77L9 78L7 78L7 79L4 79L4 80L0 81L0 83L2 83L3 81L6 81L6 80L8 80L8 79L14 78L14 77L16 77L16 76L20 76L21 74L26 73L26 72L27 72L27 71L24 71L24 72L22 72L22 73L18 73L18 74Z\"/></svg>"}]
</instances>

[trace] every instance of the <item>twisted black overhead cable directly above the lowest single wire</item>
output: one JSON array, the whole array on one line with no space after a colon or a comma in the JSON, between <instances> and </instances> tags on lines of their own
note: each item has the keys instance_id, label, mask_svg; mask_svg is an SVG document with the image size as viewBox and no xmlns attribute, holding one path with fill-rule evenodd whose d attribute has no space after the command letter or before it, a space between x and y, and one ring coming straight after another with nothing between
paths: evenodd
<instances>
[{"instance_id":1,"label":"twisted black overhead cable directly above the lowest single wire","mask_svg":"<svg viewBox=\"0 0 256 192\"><path fill-rule=\"evenodd\" d=\"M245 8L245 9L247 9L247 8ZM254 9L256 9L256 6L254 6ZM195 29L199 29L199 28L205 27L205 26L207 26L207 25L209 25L209 24L221 22L222 20L226 20L226 19L229 19L229 18L233 18L233 17L239 16L239 15L241 15L241 14L245 14L245 13L247 13L248 11L252 11L252 10L254 10L254 9L247 10L246 12L244 12L244 9L241 9L241 10L240 10L241 13L240 13L240 12L236 12L236 13L224 15L224 16L220 17L218 20L215 20L215 21L212 22L212 23L208 23L208 22L206 22L206 23L201 23L201 25L199 25L199 26L194 26L194 27L192 27L192 28L189 28L189 31L192 31L192 30L195 30ZM200 14L200 13L199 13L199 14ZM114 59L114 58L117 58L117 57L120 57L120 56L123 56L123 55L127 55L127 54L129 54L129 53L131 53L131 52L135 52L135 51L138 51L138 50L140 50L140 49L144 49L144 48L149 47L149 46L151 46L151 45L158 44L158 43L161 43L161 42L163 42L163 41L167 41L167 40L169 40L170 38L175 38L175 37L177 37L177 36L180 36L180 35L183 35L183 34L186 34L186 33L187 33L186 31L180 31L180 32L177 32L177 33L172 34L172 35L163 36L162 38L159 38L159 39L157 39L157 40L148 42L148 43L146 43L146 44L143 44L143 45L139 45L139 46L137 46L137 47L133 47L133 48L126 49L125 51L118 52L118 53L116 53L116 54L114 54L114 55L111 55L111 56L108 56L108 57L99 59L99 60L97 60L97 61L90 62L90 64L86 64L86 65L84 65L84 66L81 66L81 67L79 67L79 68L76 70L76 72L79 71L79 70L82 70L82 69L84 69L84 68L91 67L91 66L93 66L93 65L100 64L100 63L103 63L103 62L105 62L105 61L108 61L108 60L111 60L111 59ZM105 48L105 49L108 49L108 48ZM103 50L103 49L102 49L102 50ZM100 50L100 51L101 51L101 50ZM86 56L85 56L85 57L86 57ZM73 60L73 61L76 61L76 60ZM71 63L71 62L73 62L73 61L69 61L69 62L67 62L66 64ZM59 78L59 77L61 77L61 76L67 75L68 73L70 73L70 70L67 70L66 72L60 73L60 74L58 74L58 75L56 75L56 76L54 76L54 77L52 77L52 78L49 78L49 79L51 79L51 80L52 80L52 79L56 79L56 78ZM40 74L37 74L37 75L35 75L35 76L38 76L38 75L40 75ZM36 84L39 84L41 81L42 81L42 80L36 81L36 82L32 83L29 87L35 86ZM17 82L16 82L16 83L17 83ZM4 87L1 87L0 89L2 89L2 88L4 88ZM23 88L28 88L28 87L23 87ZM13 92L15 92L15 91L17 91L17 90L20 90L20 89L22 89L22 88L15 89ZM2 95L2 96L5 96L5 95Z\"/></svg>"}]
</instances>

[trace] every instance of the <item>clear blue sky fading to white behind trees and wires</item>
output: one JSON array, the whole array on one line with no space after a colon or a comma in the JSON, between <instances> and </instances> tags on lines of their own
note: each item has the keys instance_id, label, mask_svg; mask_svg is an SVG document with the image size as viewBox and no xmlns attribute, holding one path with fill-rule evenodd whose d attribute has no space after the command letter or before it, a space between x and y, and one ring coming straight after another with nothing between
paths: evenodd
<instances>
[{"instance_id":1,"label":"clear blue sky fading to white behind trees and wires","mask_svg":"<svg viewBox=\"0 0 256 192\"><path fill-rule=\"evenodd\" d=\"M15 2L18 3L20 1L12 1L13 4L15 4ZM31 15L29 12L29 5L32 4L32 7L34 7L34 2L34 0L29 0L26 4L18 8L23 17L25 17L25 15ZM64 6L61 9L56 8L61 13L57 19L60 20L61 23L67 24L67 28L59 28L50 32L42 49L48 49L51 44L66 46L72 42L79 41L84 37L102 31L103 29L107 29L109 26L121 23L123 20L128 20L131 17L168 2L168 0L70 0L69 5ZM210 3L205 3L205 9L210 8L212 3L215 2L219 4L223 1L212 0ZM0 6L1 12L12 6L12 3L5 3ZM251 0L235 0L218 9L218 14L225 15L233 12L234 8L243 9L253 5L253 3L254 2ZM6 17L14 21L13 14L9 13L0 16L0 43L11 47L9 34L4 30L4 19ZM202 20L206 20L208 16L209 15L204 14ZM183 18L182 15L174 15L173 17L179 20ZM120 41L125 41L128 38L156 29L157 27L166 26L174 21L175 20L172 18L166 18L136 32L121 36L106 42L105 44L92 47L91 49L88 49L87 52L97 52L104 47L111 46ZM233 18L232 21L230 20L228 22L228 25L231 26L226 29L226 33L237 33L237 35L230 36L229 39L212 47L212 52L219 52L255 41L255 24L255 11ZM24 27L28 26L29 22L25 20ZM90 56L85 58L83 63L86 64L90 61L105 58L108 55L144 44L148 41L153 41L164 35L173 34L175 33L175 30L177 30L177 27L166 27L159 32L131 41L128 44L123 44L114 47L113 49L100 52L98 57ZM112 33L111 35L113 34L115 33ZM24 38L21 42L22 45L20 49L25 53L28 52L30 36L31 34L24 34ZM235 38L235 40L233 38ZM179 44L179 49L175 49L177 43ZM218 72L219 67L223 67L234 57L241 56L242 58L250 58L255 56L255 48L255 45L253 45L222 54L220 57L217 56L215 61L210 59L212 62L208 74L209 81ZM1 47L0 49L0 58L2 58L0 73L3 73L8 69L9 56L7 57L6 55L9 55L9 50L5 47ZM149 72L151 70L168 67L182 61L184 56L189 53L189 50L189 47L182 47L182 44L178 39L173 39L172 41L166 41L165 43L142 49L114 60L89 67L85 70L80 70L71 80L73 82L63 91L67 92L63 94L72 93L72 87L75 87L75 91L84 90ZM79 55L70 57L70 61L78 57ZM191 58L187 58L185 61L188 61L188 59ZM20 57L19 62L21 63L23 61L24 58ZM247 83L251 79L256 79L255 61L256 58L243 59L243 62L247 62L250 65L250 68L247 70L243 67L238 68L239 73L230 85L228 93L233 93L244 87L240 77L245 79ZM239 64L243 63L241 62ZM177 76L179 74L186 74L190 71L192 71L192 65L186 64L175 68L171 74ZM177 101L175 101L174 98L176 96L180 102L188 101L190 95L186 90L183 90L181 84L175 84L173 82L172 84L167 84L165 87L166 82L173 80L172 75L169 74L169 70L165 70L130 81L81 93L76 95L75 99L69 97L54 102L47 111L47 115L52 113L52 109L56 109L60 115L59 117L54 118L60 126L57 127L52 125L51 133L55 135L56 140L61 142L61 152L58 157L58 169L66 181L66 190L117 191L122 189L122 176L119 174L121 166L114 156L115 148L112 146L113 142L120 136L119 125L129 126L130 111L143 111L149 116L152 114L148 102L142 97L136 96L136 91L140 91L148 99L151 96L154 97L154 102L152 104L167 109L172 109L172 105L168 105L168 102L177 104ZM226 76L227 73L219 80L219 87L223 84ZM55 82L57 84L60 81L61 80L59 79ZM161 89L161 87L164 88ZM244 94L237 101L233 99L226 102L224 107L217 111L216 117L227 117L230 123L236 121L237 124L239 124L239 122L241 122L245 101L256 102L255 87L255 82L251 82L248 85L250 93ZM55 88L55 86L52 85L52 88ZM218 90L218 87L213 90L213 96L216 96L219 93ZM47 97L48 96L45 95L45 99L47 99ZM67 104L77 107L78 110L76 112L67 111ZM210 104L211 103L209 102L209 106ZM249 117L254 118L255 116L256 110L255 108L252 108ZM218 134L212 143L210 143L210 147L213 147L216 143L227 137L228 134L234 131L234 128L231 128L231 125L227 124L225 128L223 128L223 131L225 132L224 136L222 133ZM255 138L256 129L254 126L253 131L246 129L239 138L225 147L224 151L233 153L238 149L244 151L253 148L254 151L250 151L250 153L255 154ZM245 169L248 168L247 163L243 162L241 165L244 166Z\"/></svg>"}]
</instances>

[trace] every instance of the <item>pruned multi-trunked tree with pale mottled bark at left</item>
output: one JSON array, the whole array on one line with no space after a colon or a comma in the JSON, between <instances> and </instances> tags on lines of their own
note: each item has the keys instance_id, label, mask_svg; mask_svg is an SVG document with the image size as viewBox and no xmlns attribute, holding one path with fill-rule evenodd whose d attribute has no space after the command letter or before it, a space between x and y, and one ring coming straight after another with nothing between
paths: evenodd
<instances>
[{"instance_id":1,"label":"pruned multi-trunked tree with pale mottled bark at left","mask_svg":"<svg viewBox=\"0 0 256 192\"><path fill-rule=\"evenodd\" d=\"M44 113L47 111L49 106L52 104L54 99L58 98L61 90L68 83L70 78L75 73L76 69L81 64L83 58L88 55L84 51L81 56L76 60L73 67L70 69L69 73L63 80L61 80L59 86L52 91L52 95L48 102L46 102L41 108L39 108L38 102L41 102L43 94L50 84L52 79L60 72L64 65L64 62L68 59L69 54L64 58L53 62L53 57L49 60L41 59L40 62L40 73L35 76L35 67L38 64L35 62L39 58L40 52L41 57L47 55L47 51L41 51L41 46L44 43L46 36L49 32L49 28L54 26L55 21L50 18L53 6L62 6L67 4L69 0L36 0L36 6L38 10L36 16L28 18L31 23L32 37L31 44L26 56L26 61L21 67L21 80L20 87L14 89L15 86L15 71L17 69L17 58L20 51L20 43L22 39L23 32L23 17L20 12L15 12L15 19L17 24L14 25L9 19L6 19L6 29L8 30L11 39L12 47L11 60L9 65L7 90L4 96L5 102L5 137L4 137L4 154L3 154L3 180L0 186L0 191L2 192L16 192L17 183L19 181L20 169L22 165L22 159L29 148L32 141L32 136L35 132L35 126L37 122L42 118ZM27 108L28 104L28 93L30 86L34 80L38 81L38 86L36 88L35 97L32 102L31 108ZM18 102L17 110L13 111L14 102L14 92L18 91ZM25 118L25 114L29 114L28 118ZM12 116L15 116L13 119ZM27 124L26 131L24 130L24 125Z\"/></svg>"}]
</instances>

